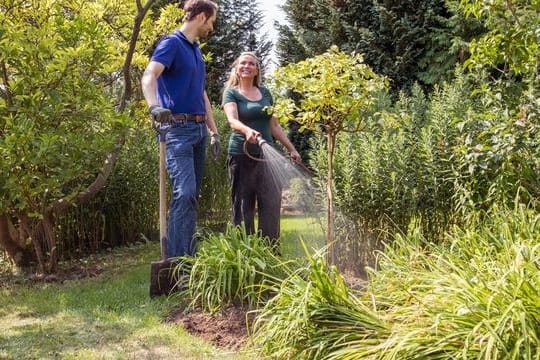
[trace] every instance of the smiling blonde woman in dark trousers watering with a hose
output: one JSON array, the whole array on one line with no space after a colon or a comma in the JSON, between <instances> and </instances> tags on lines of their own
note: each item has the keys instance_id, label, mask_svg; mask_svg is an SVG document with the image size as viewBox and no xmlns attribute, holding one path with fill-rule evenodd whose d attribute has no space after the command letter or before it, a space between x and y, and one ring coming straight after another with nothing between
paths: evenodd
<instances>
[{"instance_id":1,"label":"smiling blonde woman in dark trousers watering with a hose","mask_svg":"<svg viewBox=\"0 0 540 360\"><path fill-rule=\"evenodd\" d=\"M277 245L281 209L281 185L273 179L268 165L260 157L259 137L272 144L275 138L290 152L295 162L300 154L289 141L275 117L266 108L273 105L272 95L261 86L257 56L244 52L233 64L223 91L223 109L231 126L227 167L232 188L232 222L244 223L249 234L255 232L255 206L262 236ZM245 148L249 154L244 151ZM271 146L271 145L264 145Z\"/></svg>"}]
</instances>

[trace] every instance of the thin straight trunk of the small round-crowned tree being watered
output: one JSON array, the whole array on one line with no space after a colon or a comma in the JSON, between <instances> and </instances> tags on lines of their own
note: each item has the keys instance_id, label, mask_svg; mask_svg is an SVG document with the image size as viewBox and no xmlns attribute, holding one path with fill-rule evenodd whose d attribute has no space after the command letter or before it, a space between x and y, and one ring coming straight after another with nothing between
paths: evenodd
<instances>
[{"instance_id":1,"label":"thin straight trunk of the small round-crowned tree being watered","mask_svg":"<svg viewBox=\"0 0 540 360\"><path fill-rule=\"evenodd\" d=\"M326 246L328 249L326 261L330 265L336 265L336 253L334 246L334 192L333 192L333 171L334 149L336 145L336 135L328 134L328 173L326 176Z\"/></svg>"}]
</instances>

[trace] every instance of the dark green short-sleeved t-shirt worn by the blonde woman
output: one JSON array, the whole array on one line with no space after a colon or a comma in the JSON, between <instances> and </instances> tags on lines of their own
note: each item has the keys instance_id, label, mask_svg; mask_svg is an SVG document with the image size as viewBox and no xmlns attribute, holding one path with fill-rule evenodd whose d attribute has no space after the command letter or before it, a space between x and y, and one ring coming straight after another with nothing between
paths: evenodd
<instances>
[{"instance_id":1,"label":"dark green short-sleeved t-shirt worn by the blonde woman","mask_svg":"<svg viewBox=\"0 0 540 360\"><path fill-rule=\"evenodd\" d=\"M270 119L272 115L266 113L266 108L272 106L274 101L270 91L264 86L259 87L262 98L258 101L249 100L238 92L235 88L226 88L223 91L222 105L230 102L235 102L238 108L238 120L246 124L250 128L261 133L263 139L269 143L273 143L272 133L270 132ZM232 131L229 139L229 155L244 154L244 142L246 137L237 131ZM260 154L259 146L256 144L248 144L248 152L251 155Z\"/></svg>"}]
</instances>

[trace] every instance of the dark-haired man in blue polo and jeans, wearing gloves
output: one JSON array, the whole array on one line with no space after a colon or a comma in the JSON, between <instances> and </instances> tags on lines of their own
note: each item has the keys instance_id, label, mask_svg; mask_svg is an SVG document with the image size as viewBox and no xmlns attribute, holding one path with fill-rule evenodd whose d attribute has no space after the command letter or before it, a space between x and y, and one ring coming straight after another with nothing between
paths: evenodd
<instances>
[{"instance_id":1,"label":"dark-haired man in blue polo and jeans, wearing gloves","mask_svg":"<svg viewBox=\"0 0 540 360\"><path fill-rule=\"evenodd\" d=\"M219 135L205 91L206 68L198 39L214 28L217 4L188 0L180 30L157 45L142 80L142 91L157 123L171 127L166 135L167 171L171 179L168 257L193 256L197 199L206 156L207 127L214 156Z\"/></svg>"}]
</instances>

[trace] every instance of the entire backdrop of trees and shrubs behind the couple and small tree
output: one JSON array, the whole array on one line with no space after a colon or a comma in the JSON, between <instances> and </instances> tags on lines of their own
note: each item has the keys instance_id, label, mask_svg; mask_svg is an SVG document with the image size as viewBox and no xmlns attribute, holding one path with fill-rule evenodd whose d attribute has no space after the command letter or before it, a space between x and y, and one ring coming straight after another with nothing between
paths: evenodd
<instances>
[{"instance_id":1,"label":"entire backdrop of trees and shrubs behind the couple and small tree","mask_svg":"<svg viewBox=\"0 0 540 360\"><path fill-rule=\"evenodd\" d=\"M153 45L182 14L171 1L32 4L0 0L0 249L46 272L58 259L153 238L157 150L136 84ZM267 63L270 50L256 3L219 5L203 47L216 105L234 58L255 49ZM537 5L287 0L284 11L281 66L336 45L363 53L390 80L370 132L336 146L337 205L354 227L385 218L405 228L418 215L448 223L459 211L513 199L518 188L523 201L537 196ZM226 120L219 109L216 116L225 140ZM290 125L293 141L324 174L324 139L298 127ZM401 150L385 147L393 143ZM351 151L373 156L351 163ZM223 160L208 162L203 224L228 218Z\"/></svg>"}]
</instances>

